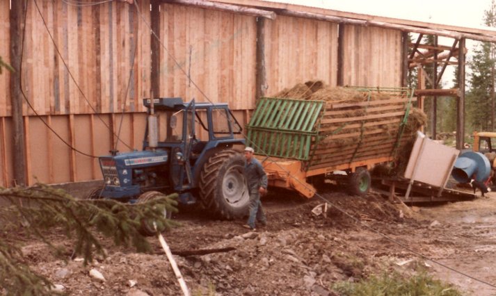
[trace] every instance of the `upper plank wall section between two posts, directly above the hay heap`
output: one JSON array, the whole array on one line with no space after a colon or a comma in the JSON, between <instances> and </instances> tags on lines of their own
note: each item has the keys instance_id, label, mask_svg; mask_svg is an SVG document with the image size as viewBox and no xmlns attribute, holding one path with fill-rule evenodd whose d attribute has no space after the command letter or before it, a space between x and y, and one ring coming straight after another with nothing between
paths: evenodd
<instances>
[{"instance_id":1,"label":"upper plank wall section between two posts, directly above the hay heap","mask_svg":"<svg viewBox=\"0 0 496 296\"><path fill-rule=\"evenodd\" d=\"M337 24L278 15L265 25L267 95L312 79L336 85Z\"/></svg>"}]
</instances>

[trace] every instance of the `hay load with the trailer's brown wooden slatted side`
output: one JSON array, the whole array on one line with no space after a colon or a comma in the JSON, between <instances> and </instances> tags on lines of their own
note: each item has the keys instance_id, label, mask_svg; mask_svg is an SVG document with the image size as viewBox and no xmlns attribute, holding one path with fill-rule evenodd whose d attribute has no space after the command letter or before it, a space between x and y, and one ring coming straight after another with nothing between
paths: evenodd
<instances>
[{"instance_id":1,"label":"hay load with the trailer's brown wooden slatted side","mask_svg":"<svg viewBox=\"0 0 496 296\"><path fill-rule=\"evenodd\" d=\"M410 151L411 139L426 123L422 110L412 108L415 98L406 89L329 87L307 81L270 97L325 102L314 126L318 136L312 139L306 170L367 163L371 158L393 157L399 163L405 157L401 151Z\"/></svg>"}]
</instances>

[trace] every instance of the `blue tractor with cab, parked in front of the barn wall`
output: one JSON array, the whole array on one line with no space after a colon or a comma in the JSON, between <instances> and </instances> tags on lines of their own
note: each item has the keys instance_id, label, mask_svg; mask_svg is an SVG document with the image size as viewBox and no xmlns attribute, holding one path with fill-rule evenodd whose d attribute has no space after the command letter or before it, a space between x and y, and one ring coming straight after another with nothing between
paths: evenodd
<instances>
[{"instance_id":1,"label":"blue tractor with cab, parked in front of the barn wall","mask_svg":"<svg viewBox=\"0 0 496 296\"><path fill-rule=\"evenodd\" d=\"M179 203L200 202L223 219L248 212L244 158L235 149L241 126L227 104L181 98L144 99L147 127L143 151L99 157L104 188L88 198L144 202L162 193L179 194ZM200 138L202 135L204 138Z\"/></svg>"}]
</instances>

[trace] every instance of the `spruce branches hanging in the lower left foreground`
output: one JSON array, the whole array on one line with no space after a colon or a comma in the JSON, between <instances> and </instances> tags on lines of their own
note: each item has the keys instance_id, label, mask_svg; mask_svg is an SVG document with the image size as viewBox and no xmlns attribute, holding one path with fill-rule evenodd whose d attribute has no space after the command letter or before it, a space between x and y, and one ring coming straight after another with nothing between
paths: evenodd
<instances>
[{"instance_id":1,"label":"spruce branches hanging in the lower left foreground","mask_svg":"<svg viewBox=\"0 0 496 296\"><path fill-rule=\"evenodd\" d=\"M177 195L169 195L138 204L124 204L111 199L74 199L67 192L37 184L30 188L1 188L1 233L29 231L45 242L59 258L63 249L51 244L44 233L62 228L67 238L74 238L74 253L84 257L84 263L94 254L104 256L97 233L112 238L115 245L132 245L138 252L150 250L141 234L143 223L154 222L159 231L177 225L166 219L163 211L175 211ZM51 282L31 271L24 262L19 247L0 240L0 294L54 295Z\"/></svg>"}]
</instances>

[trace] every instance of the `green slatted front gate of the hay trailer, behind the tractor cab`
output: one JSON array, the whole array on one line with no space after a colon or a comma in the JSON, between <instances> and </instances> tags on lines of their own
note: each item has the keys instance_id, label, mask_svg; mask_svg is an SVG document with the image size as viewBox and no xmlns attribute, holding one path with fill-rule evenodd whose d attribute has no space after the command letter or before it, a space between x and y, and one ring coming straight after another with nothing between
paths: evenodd
<instances>
[{"instance_id":1,"label":"green slatted front gate of the hay trailer, behind the tractor cab","mask_svg":"<svg viewBox=\"0 0 496 296\"><path fill-rule=\"evenodd\" d=\"M310 160L312 139L325 101L262 98L248 124L248 145L257 154Z\"/></svg>"}]
</instances>

